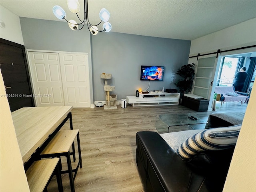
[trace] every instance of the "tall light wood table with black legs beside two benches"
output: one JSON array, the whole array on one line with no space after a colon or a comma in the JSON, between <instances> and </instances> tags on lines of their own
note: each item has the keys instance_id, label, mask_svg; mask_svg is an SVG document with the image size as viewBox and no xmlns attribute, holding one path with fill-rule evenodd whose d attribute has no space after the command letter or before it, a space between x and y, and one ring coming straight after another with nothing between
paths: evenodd
<instances>
[{"instance_id":1,"label":"tall light wood table with black legs beside two benches","mask_svg":"<svg viewBox=\"0 0 256 192\"><path fill-rule=\"evenodd\" d=\"M70 119L72 127L72 106L25 107L12 112L23 163L43 144L50 142L56 132ZM26 168L25 168L26 169Z\"/></svg>"}]
</instances>

